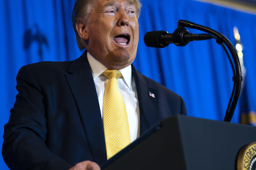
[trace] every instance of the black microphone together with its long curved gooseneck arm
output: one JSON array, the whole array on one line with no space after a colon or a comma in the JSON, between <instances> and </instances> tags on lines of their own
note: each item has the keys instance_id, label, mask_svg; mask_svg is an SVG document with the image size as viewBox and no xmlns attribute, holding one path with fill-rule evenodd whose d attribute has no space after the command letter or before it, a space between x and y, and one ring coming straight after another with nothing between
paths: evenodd
<instances>
[{"instance_id":1,"label":"black microphone together with its long curved gooseneck arm","mask_svg":"<svg viewBox=\"0 0 256 170\"><path fill-rule=\"evenodd\" d=\"M191 34L191 33L189 33L189 31L187 31L185 29L185 27L198 29L198 30L207 32L211 35L209 35L209 34ZM150 36L155 35L155 33L159 33L159 35L157 35L157 37L153 37L153 41L152 41L152 37L150 37ZM146 36L146 34L148 34L149 36L148 35ZM231 44L231 42L223 34L217 32L211 28L208 28L208 27L205 27L202 25L198 25L198 24L186 21L186 20L179 20L178 28L175 29L173 34L169 34L166 31L155 31L155 32L151 31L151 32L147 32L146 34L144 36L145 44L147 46L159 47L159 48L164 48L164 47L168 46L170 43L174 43L177 46L185 46L189 43L189 41L193 41L193 40L206 40L206 39L211 39L211 38L216 39L216 42L219 45L221 45L223 47L223 49L225 50L227 57L229 58L229 62L231 64L231 68L232 68L233 75L234 75L233 76L233 81L234 81L233 90L232 90L232 94L231 94L229 104L227 106L225 118L224 118L224 121L230 122L232 119L232 116L234 114L236 105L237 105L237 101L238 101L239 94L241 91L242 79L243 79L242 74L241 74L241 66L240 66L240 62L239 62L239 57L238 57L238 54L237 54L234 46ZM155 41L157 39L159 41ZM147 40L149 40L149 41L147 41ZM154 45L154 42L157 42L157 44ZM229 56L229 53L227 52L223 43L227 46L230 53L232 54L235 67L234 67L233 62L231 61L231 58Z\"/></svg>"}]
</instances>

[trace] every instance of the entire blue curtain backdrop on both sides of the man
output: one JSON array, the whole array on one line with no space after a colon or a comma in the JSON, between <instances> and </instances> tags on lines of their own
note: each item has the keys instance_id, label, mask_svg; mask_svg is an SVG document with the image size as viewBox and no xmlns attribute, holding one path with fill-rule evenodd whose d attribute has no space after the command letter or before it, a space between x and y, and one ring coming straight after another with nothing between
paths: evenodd
<instances>
[{"instance_id":1,"label":"entire blue curtain backdrop on both sides of the man","mask_svg":"<svg viewBox=\"0 0 256 170\"><path fill-rule=\"evenodd\" d=\"M74 2L0 1L1 135L17 94L15 77L20 67L39 61L74 60L82 54L76 45L71 23ZM207 40L190 42L185 47L170 44L156 49L145 46L143 37L147 31L172 33L178 20L184 19L213 28L235 43L233 27L237 26L246 67L247 98L242 103L249 102L249 111L255 109L255 15L193 0L142 0L142 3L140 39L134 61L137 70L181 95L188 116L223 120L233 87L233 75L222 47L215 40ZM232 119L235 123L239 122L239 103ZM0 138L0 144L2 142ZM0 167L8 169L2 158Z\"/></svg>"}]
</instances>

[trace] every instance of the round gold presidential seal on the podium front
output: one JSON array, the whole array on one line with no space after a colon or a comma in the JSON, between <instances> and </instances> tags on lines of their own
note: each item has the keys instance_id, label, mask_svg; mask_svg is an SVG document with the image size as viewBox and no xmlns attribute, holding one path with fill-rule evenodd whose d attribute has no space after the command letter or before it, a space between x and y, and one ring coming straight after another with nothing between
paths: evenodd
<instances>
[{"instance_id":1,"label":"round gold presidential seal on the podium front","mask_svg":"<svg viewBox=\"0 0 256 170\"><path fill-rule=\"evenodd\" d=\"M237 156L237 170L256 170L256 142L241 148Z\"/></svg>"}]
</instances>

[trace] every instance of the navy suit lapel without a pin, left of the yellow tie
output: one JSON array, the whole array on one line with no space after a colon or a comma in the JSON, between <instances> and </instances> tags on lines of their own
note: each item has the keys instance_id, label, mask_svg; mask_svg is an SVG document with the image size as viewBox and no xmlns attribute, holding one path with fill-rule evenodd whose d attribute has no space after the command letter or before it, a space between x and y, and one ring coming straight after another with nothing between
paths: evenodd
<instances>
[{"instance_id":1,"label":"navy suit lapel without a pin, left of the yellow tie","mask_svg":"<svg viewBox=\"0 0 256 170\"><path fill-rule=\"evenodd\" d=\"M106 161L106 147L101 111L86 51L67 70L67 81L77 102L94 161Z\"/></svg>"}]
</instances>

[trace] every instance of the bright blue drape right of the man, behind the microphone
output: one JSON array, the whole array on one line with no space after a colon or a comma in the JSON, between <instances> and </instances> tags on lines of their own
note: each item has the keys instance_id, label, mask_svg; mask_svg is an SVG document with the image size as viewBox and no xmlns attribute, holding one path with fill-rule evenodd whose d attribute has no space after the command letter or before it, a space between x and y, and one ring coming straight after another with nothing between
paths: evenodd
<instances>
[{"instance_id":1,"label":"bright blue drape right of the man, behind the microphone","mask_svg":"<svg viewBox=\"0 0 256 170\"><path fill-rule=\"evenodd\" d=\"M233 27L237 26L244 45L245 66L253 67L255 15L188 0L162 0L159 3L146 3L146 6L144 3L139 21L140 40L147 31L165 30L172 33L179 19L213 28L231 42L235 42ZM188 30L191 33L203 33ZM181 95L189 116L223 120L233 87L233 75L224 50L215 40L190 42L185 47L170 44L164 49L145 47L140 41L138 49L135 66ZM250 81L255 85L253 77ZM232 122L238 120L236 109Z\"/></svg>"}]
</instances>

